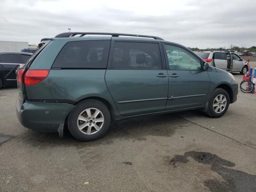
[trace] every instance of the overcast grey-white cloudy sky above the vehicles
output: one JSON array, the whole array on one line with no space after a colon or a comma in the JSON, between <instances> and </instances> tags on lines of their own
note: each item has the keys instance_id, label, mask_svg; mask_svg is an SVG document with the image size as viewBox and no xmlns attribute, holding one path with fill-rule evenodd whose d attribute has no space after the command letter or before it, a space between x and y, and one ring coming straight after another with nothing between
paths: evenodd
<instances>
[{"instance_id":1,"label":"overcast grey-white cloudy sky above the vehicles","mask_svg":"<svg viewBox=\"0 0 256 192\"><path fill-rule=\"evenodd\" d=\"M185 46L256 46L256 0L0 0L0 40L67 32L155 35Z\"/></svg>"}]
</instances>

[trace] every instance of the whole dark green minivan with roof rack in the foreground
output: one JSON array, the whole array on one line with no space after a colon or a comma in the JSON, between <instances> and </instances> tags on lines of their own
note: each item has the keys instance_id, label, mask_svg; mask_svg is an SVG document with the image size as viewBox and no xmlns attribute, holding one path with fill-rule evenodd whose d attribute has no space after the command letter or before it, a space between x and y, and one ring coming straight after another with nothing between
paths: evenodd
<instances>
[{"instance_id":1,"label":"whole dark green minivan with roof rack in the foreground","mask_svg":"<svg viewBox=\"0 0 256 192\"><path fill-rule=\"evenodd\" d=\"M75 138L90 141L111 120L192 109L220 117L237 99L232 74L159 37L68 32L40 46L17 71L17 116L33 130L62 136L67 124Z\"/></svg>"}]
</instances>

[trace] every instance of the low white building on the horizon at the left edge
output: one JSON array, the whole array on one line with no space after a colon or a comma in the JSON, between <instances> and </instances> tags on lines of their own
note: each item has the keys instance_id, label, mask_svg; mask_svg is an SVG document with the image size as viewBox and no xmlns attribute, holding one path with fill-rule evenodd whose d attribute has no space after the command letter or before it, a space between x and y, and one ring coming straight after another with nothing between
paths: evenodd
<instances>
[{"instance_id":1,"label":"low white building on the horizon at the left edge","mask_svg":"<svg viewBox=\"0 0 256 192\"><path fill-rule=\"evenodd\" d=\"M19 52L24 48L28 48L28 42L0 41L0 52L6 52L6 51Z\"/></svg>"}]
</instances>

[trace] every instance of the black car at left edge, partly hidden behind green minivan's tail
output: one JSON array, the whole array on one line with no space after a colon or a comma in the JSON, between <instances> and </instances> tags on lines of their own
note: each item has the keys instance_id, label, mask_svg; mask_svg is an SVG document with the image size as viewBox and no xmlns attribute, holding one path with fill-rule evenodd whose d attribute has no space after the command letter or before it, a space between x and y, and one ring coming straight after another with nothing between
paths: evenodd
<instances>
[{"instance_id":1,"label":"black car at left edge, partly hidden behind green minivan's tail","mask_svg":"<svg viewBox=\"0 0 256 192\"><path fill-rule=\"evenodd\" d=\"M25 64L31 53L0 52L0 88L3 85L17 85L16 69Z\"/></svg>"}]
</instances>

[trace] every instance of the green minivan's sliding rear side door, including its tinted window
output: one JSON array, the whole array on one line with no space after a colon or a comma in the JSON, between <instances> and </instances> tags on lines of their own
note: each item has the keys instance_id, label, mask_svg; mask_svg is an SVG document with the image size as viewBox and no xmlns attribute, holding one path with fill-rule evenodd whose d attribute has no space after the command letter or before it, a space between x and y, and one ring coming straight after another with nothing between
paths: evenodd
<instances>
[{"instance_id":1,"label":"green minivan's sliding rear side door, including its tinted window","mask_svg":"<svg viewBox=\"0 0 256 192\"><path fill-rule=\"evenodd\" d=\"M105 80L121 116L164 111L168 74L160 43L112 39Z\"/></svg>"}]
</instances>

